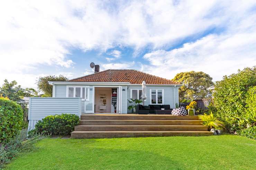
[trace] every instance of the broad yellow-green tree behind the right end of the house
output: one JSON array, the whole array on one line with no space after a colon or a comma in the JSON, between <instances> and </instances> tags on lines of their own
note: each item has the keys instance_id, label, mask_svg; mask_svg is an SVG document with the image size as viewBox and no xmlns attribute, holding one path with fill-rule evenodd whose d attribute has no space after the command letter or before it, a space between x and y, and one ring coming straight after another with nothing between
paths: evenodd
<instances>
[{"instance_id":1,"label":"broad yellow-green tree behind the right end of the house","mask_svg":"<svg viewBox=\"0 0 256 170\"><path fill-rule=\"evenodd\" d=\"M207 88L213 85L212 77L204 72L181 72L172 80L182 84L179 89L181 101L208 97L210 93Z\"/></svg>"}]
</instances>

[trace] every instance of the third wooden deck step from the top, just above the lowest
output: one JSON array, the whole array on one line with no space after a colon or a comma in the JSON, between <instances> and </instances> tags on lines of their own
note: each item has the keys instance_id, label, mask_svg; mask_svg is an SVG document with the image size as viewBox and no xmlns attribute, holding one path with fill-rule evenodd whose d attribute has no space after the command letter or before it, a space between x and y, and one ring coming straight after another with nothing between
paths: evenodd
<instances>
[{"instance_id":1,"label":"third wooden deck step from the top, just above the lowest","mask_svg":"<svg viewBox=\"0 0 256 170\"><path fill-rule=\"evenodd\" d=\"M75 131L207 131L203 125L79 125Z\"/></svg>"}]
</instances>

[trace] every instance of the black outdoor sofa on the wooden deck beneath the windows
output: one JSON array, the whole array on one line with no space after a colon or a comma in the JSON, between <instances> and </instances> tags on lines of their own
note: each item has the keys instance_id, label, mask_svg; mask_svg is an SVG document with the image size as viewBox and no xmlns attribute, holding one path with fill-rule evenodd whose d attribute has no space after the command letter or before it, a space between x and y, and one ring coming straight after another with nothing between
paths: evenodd
<instances>
[{"instance_id":1,"label":"black outdoor sofa on the wooden deck beneath the windows","mask_svg":"<svg viewBox=\"0 0 256 170\"><path fill-rule=\"evenodd\" d=\"M164 110L162 110L164 108ZM136 114L171 114L172 108L170 105L137 105L136 106Z\"/></svg>"}]
</instances>

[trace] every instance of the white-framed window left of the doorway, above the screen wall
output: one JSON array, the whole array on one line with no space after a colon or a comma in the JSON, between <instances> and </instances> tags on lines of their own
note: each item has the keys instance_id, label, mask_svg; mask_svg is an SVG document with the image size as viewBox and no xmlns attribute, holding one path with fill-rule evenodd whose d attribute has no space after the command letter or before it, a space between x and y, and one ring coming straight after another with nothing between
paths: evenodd
<instances>
[{"instance_id":1,"label":"white-framed window left of the doorway, above the screen wall","mask_svg":"<svg viewBox=\"0 0 256 170\"><path fill-rule=\"evenodd\" d=\"M67 86L66 97L81 97L82 100L89 100L89 91L86 86Z\"/></svg>"}]
</instances>

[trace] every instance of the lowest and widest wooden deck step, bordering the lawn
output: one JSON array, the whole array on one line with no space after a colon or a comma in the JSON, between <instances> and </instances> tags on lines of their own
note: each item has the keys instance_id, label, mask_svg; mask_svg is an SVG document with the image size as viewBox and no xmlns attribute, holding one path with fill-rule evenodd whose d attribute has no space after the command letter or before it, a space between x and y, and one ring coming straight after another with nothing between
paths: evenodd
<instances>
[{"instance_id":1,"label":"lowest and widest wooden deck step, bordering the lawn","mask_svg":"<svg viewBox=\"0 0 256 170\"><path fill-rule=\"evenodd\" d=\"M155 136L210 136L209 131L73 131L71 138L119 138Z\"/></svg>"}]
</instances>

